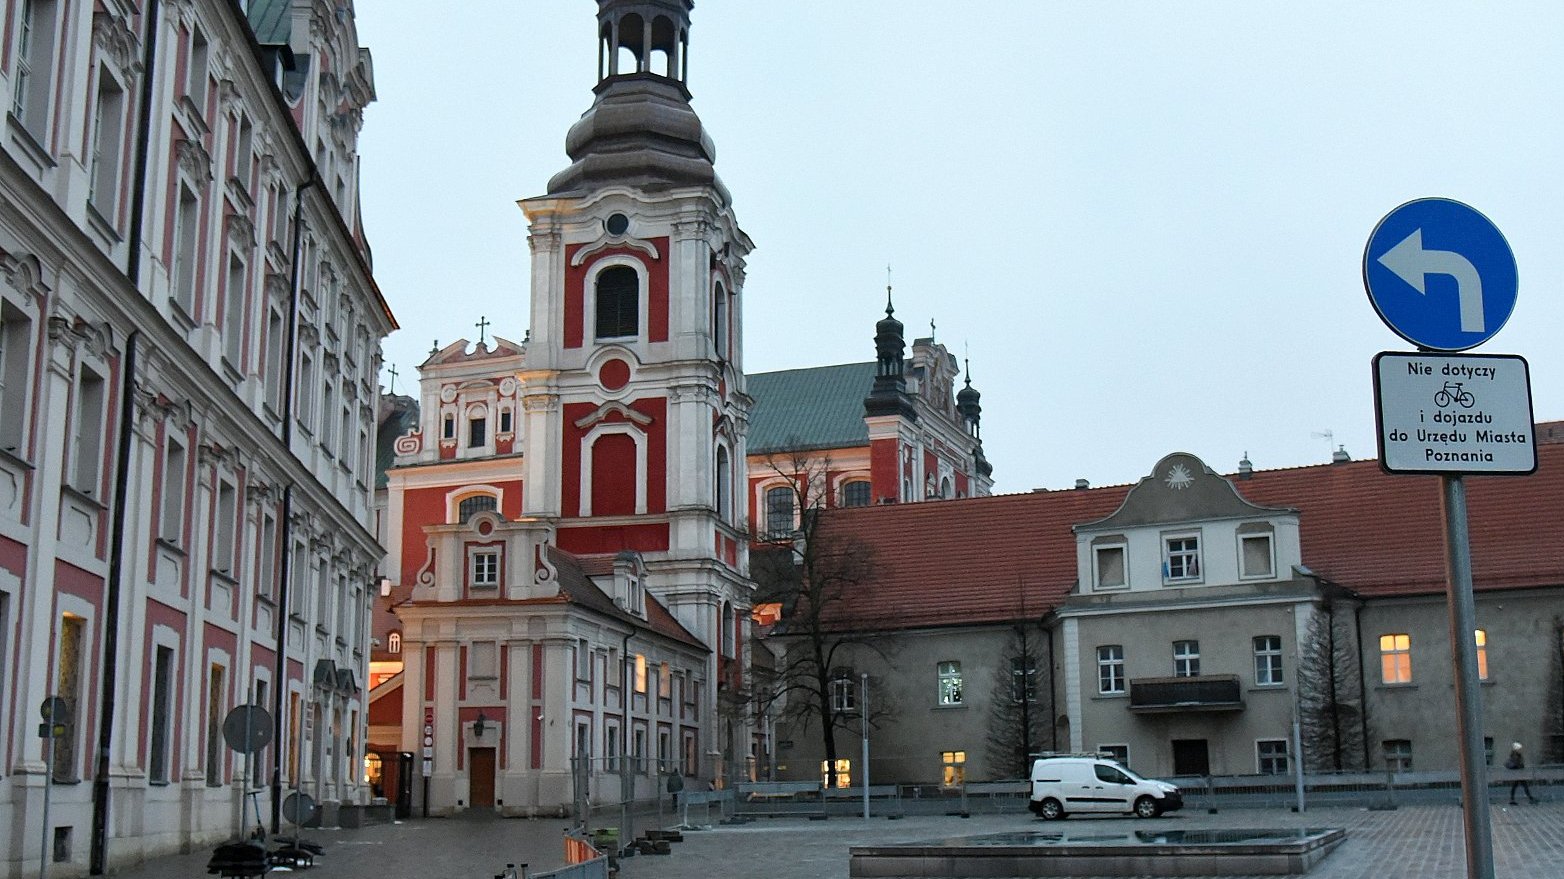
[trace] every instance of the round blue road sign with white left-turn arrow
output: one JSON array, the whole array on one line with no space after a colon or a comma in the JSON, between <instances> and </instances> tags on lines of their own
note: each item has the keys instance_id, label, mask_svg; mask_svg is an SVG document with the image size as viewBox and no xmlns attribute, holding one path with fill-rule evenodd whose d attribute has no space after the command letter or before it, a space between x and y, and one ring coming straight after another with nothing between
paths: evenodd
<instances>
[{"instance_id":1,"label":"round blue road sign with white left-turn arrow","mask_svg":"<svg viewBox=\"0 0 1564 879\"><path fill-rule=\"evenodd\" d=\"M1364 247L1364 288L1395 335L1425 349L1465 350L1516 310L1516 255L1476 210L1417 199L1386 214Z\"/></svg>"}]
</instances>

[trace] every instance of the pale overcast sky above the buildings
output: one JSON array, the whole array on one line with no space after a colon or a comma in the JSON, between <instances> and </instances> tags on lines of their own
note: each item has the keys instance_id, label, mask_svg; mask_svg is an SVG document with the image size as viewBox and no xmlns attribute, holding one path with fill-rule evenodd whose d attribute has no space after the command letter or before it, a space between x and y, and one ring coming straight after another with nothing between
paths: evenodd
<instances>
[{"instance_id":1,"label":"pale overcast sky above the buildings","mask_svg":"<svg viewBox=\"0 0 1564 879\"><path fill-rule=\"evenodd\" d=\"M518 199L591 105L591 0L358 0L364 225L407 393L480 316L519 341ZM754 238L751 374L970 350L996 491L1375 455L1375 224L1442 196L1520 271L1480 353L1564 418L1564 3L698 0L690 91ZM389 377L383 379L389 382ZM1414 477L1408 477L1414 479Z\"/></svg>"}]
</instances>

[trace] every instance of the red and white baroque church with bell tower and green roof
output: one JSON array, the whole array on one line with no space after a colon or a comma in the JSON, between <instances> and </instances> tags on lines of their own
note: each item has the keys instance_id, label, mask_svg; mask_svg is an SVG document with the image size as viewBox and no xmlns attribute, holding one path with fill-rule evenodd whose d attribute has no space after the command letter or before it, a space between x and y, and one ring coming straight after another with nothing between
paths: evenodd
<instances>
[{"instance_id":1,"label":"red and white baroque church with bell tower and green roof","mask_svg":"<svg viewBox=\"0 0 1564 879\"><path fill-rule=\"evenodd\" d=\"M527 338L439 347L383 410L388 799L557 813L757 777L757 532L798 527L801 485L829 507L992 486L978 391L932 338L906 357L888 299L876 361L746 377L752 242L690 106L691 6L601 3L571 164L521 202Z\"/></svg>"}]
</instances>

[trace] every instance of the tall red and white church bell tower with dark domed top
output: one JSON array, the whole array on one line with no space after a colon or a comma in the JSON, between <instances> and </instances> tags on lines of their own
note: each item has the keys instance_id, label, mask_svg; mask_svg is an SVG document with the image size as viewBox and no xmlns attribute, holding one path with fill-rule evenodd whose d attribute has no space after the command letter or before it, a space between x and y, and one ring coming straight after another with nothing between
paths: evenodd
<instances>
[{"instance_id":1,"label":"tall red and white church bell tower with dark domed top","mask_svg":"<svg viewBox=\"0 0 1564 879\"><path fill-rule=\"evenodd\" d=\"M693 6L597 0L597 84L566 136L571 164L521 202L532 249L522 511L554 522L569 552L644 558L647 588L713 651L712 704L744 687L751 583L735 486L752 244L690 106ZM741 759L744 735L730 738Z\"/></svg>"}]
</instances>

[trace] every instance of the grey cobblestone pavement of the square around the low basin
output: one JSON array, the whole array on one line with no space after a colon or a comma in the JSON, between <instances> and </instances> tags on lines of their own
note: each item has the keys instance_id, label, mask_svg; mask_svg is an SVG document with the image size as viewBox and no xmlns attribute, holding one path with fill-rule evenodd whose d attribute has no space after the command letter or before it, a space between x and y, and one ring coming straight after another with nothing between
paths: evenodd
<instances>
[{"instance_id":1,"label":"grey cobblestone pavement of the square around the low basin","mask_svg":"<svg viewBox=\"0 0 1564 879\"><path fill-rule=\"evenodd\" d=\"M651 818L651 816L649 816ZM638 827L654 826L641 820ZM1509 807L1495 804L1494 865L1497 879L1542 879L1564 874L1564 804ZM325 846L313 879L490 879L505 863L532 871L563 863L557 820L432 818L352 831L308 831ZM845 879L854 845L927 841L948 837L1068 829L1250 829L1345 827L1342 841L1309 879L1462 879L1465 856L1456 805L1403 805L1389 812L1311 809L1297 815L1276 809L1201 810L1142 821L1137 818L1070 818L1045 824L1029 813L884 818L763 818L749 824L688 831L669 856L637 856L621 862L619 879ZM210 849L161 857L116 871L120 879L197 879L206 876Z\"/></svg>"}]
</instances>

